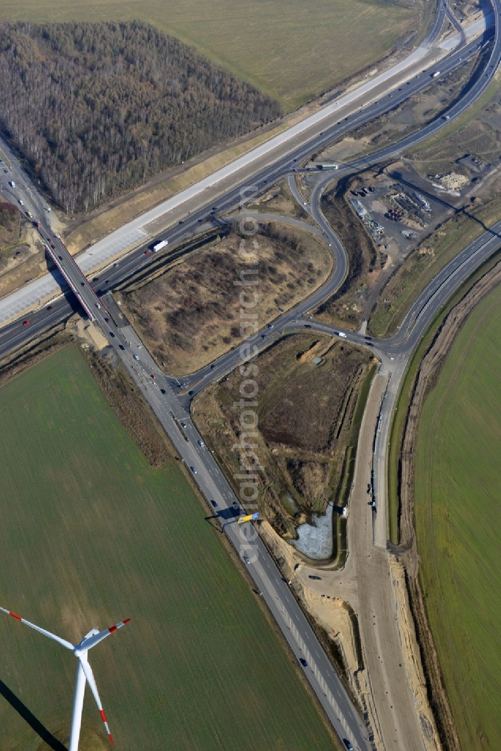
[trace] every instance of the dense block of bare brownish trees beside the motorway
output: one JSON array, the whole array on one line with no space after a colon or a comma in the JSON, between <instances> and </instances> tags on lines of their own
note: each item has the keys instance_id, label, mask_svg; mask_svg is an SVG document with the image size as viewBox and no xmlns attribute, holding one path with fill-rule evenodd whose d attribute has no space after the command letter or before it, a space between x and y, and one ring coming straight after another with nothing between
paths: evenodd
<instances>
[{"instance_id":1,"label":"dense block of bare brownish trees beside the motorway","mask_svg":"<svg viewBox=\"0 0 501 751\"><path fill-rule=\"evenodd\" d=\"M67 212L280 114L146 23L0 23L0 128Z\"/></svg>"}]
</instances>

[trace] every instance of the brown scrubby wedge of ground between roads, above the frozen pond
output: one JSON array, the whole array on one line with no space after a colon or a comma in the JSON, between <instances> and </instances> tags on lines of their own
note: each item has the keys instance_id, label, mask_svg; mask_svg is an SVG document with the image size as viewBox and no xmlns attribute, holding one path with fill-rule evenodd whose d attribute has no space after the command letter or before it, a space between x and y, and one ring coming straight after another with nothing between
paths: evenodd
<instances>
[{"instance_id":1,"label":"brown scrubby wedge of ground between roads, above the frozen pond","mask_svg":"<svg viewBox=\"0 0 501 751\"><path fill-rule=\"evenodd\" d=\"M315 352L321 364L305 353ZM282 535L333 500L371 355L327 336L287 336L258 357L258 505ZM228 478L238 474L240 372L195 400L193 415ZM238 490L238 488L237 488ZM284 504L284 496L290 496ZM292 500L292 503L290 502ZM294 504L297 511L294 511Z\"/></svg>"}]
</instances>

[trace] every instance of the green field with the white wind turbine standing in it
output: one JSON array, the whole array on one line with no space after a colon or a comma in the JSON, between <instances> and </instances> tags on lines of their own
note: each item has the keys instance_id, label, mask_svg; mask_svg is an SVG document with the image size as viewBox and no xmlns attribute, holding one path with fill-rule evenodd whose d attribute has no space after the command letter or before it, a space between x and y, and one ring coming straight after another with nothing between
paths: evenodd
<instances>
[{"instance_id":1,"label":"green field with the white wind turbine standing in it","mask_svg":"<svg viewBox=\"0 0 501 751\"><path fill-rule=\"evenodd\" d=\"M146 463L77 348L3 387L0 415L0 604L71 641L131 618L91 653L116 748L333 748L210 514L174 460ZM0 644L2 751L41 749L30 725L68 724L76 660L3 614ZM88 691L84 722L104 735Z\"/></svg>"}]
</instances>

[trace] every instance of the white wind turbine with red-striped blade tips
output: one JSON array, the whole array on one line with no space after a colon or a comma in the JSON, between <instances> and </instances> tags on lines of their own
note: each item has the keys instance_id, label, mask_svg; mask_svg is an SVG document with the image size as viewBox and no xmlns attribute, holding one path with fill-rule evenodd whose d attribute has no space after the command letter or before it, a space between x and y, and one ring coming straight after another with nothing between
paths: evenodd
<instances>
[{"instance_id":1,"label":"white wind turbine with red-striped blade tips","mask_svg":"<svg viewBox=\"0 0 501 751\"><path fill-rule=\"evenodd\" d=\"M89 633L83 637L82 641L80 641L80 644L71 644L70 641L66 641L60 636L56 636L56 634L51 634L50 631L41 629L40 626L35 626L35 623L30 623L29 620L25 620L24 618L21 618L20 615L16 615L15 613L12 613L5 608L0 607L0 611L11 615L13 618L16 618L16 620L20 620L21 623L26 623L26 626L29 626L31 629L35 629L35 631L48 636L50 639L53 639L53 641L57 641L58 644L62 644L63 647L66 647L67 650L71 650L74 653L74 656L78 658L77 677L75 679L75 692L73 697L73 714L71 716L70 744L68 746L68 751L78 751L80 725L82 724L83 694L85 692L86 681L87 683L89 683L90 690L92 691L92 694L95 698L95 703L98 705L98 710L101 715L101 719L104 722L104 727L106 728L108 737L110 738L110 743L113 744L113 738L111 737L110 728L108 727L106 716L104 716L101 698L99 698L98 686L96 686L95 684L94 674L92 673L91 667L87 660L87 653L89 652L89 650L92 650L92 647L95 647L96 644L99 644L100 641L105 639L110 634L113 634L114 631L121 629L122 626L125 626L125 623L128 623L131 619L126 618L125 620L120 621L120 623L116 623L116 626L111 626L110 629L104 629L104 631L92 629L92 631L89 631Z\"/></svg>"}]
</instances>

